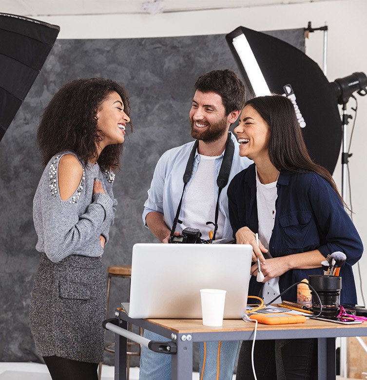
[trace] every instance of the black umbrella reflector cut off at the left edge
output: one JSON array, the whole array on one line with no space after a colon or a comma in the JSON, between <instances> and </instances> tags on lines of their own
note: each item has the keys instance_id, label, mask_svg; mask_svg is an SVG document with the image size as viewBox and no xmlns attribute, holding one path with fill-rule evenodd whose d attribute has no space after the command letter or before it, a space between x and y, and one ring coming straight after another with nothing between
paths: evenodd
<instances>
[{"instance_id":1,"label":"black umbrella reflector cut off at the left edge","mask_svg":"<svg viewBox=\"0 0 367 380\"><path fill-rule=\"evenodd\" d=\"M0 140L32 87L60 28L0 13Z\"/></svg>"}]
</instances>

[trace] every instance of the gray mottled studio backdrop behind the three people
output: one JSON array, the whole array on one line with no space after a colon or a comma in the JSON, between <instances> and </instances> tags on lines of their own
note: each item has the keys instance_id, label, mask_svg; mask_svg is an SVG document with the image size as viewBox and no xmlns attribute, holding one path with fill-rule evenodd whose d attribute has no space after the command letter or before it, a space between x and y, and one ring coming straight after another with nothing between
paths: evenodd
<instances>
[{"instance_id":1,"label":"gray mottled studio backdrop behind the three people","mask_svg":"<svg viewBox=\"0 0 367 380\"><path fill-rule=\"evenodd\" d=\"M303 29L269 34L304 51ZM1 362L41 361L28 327L39 263L32 199L42 172L36 129L51 97L64 83L92 76L114 79L130 93L134 132L125 138L114 185L119 205L104 254L106 267L130 264L135 243L155 241L141 220L155 164L165 150L191 140L193 83L198 75L223 68L237 70L224 35L56 42L0 142ZM127 282L113 279L110 315L127 299ZM113 362L111 354L105 359Z\"/></svg>"}]
</instances>

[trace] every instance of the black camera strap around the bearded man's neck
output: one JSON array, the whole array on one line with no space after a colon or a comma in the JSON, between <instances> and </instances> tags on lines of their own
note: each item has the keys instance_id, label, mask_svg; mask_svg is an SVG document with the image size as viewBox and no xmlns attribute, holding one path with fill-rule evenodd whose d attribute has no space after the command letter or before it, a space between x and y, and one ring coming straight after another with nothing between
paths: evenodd
<instances>
[{"instance_id":1,"label":"black camera strap around the bearded man's neck","mask_svg":"<svg viewBox=\"0 0 367 380\"><path fill-rule=\"evenodd\" d=\"M180 202L179 202L178 207L177 207L176 216L174 217L174 223L173 223L172 230L171 230L171 237L174 236L174 231L176 230L177 223L180 223L180 224L182 223L182 220L179 220L178 217L180 215L182 200L183 200L183 195L185 192L186 185L190 181L190 178L193 174L193 163L194 163L196 149L197 149L198 144L199 144L199 140L196 140L194 145L193 145L193 149L191 150L189 160L187 161L187 164L186 164L185 174L183 176L184 185L183 185L183 189L182 189L181 199L180 199ZM233 141L231 138L231 134L228 133L226 150L224 152L223 161L222 161L222 164L220 165L219 174L218 174L218 177L216 180L216 183L218 185L218 198L216 200L216 206L215 206L215 219L214 219L214 222L207 222L206 223L206 224L213 224L214 225L214 232L213 232L213 237L211 240L215 240L215 234L218 230L219 197L220 197L220 193L221 193L223 187L225 187L228 183L228 179L229 179L231 167L232 167L233 153L234 153L234 144L233 144Z\"/></svg>"}]
</instances>

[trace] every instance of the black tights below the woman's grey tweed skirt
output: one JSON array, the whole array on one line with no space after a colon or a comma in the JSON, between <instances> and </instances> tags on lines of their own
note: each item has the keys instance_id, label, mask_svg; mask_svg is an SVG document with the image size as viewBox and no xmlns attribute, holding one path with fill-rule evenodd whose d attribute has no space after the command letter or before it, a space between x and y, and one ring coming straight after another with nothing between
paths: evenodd
<instances>
[{"instance_id":1,"label":"black tights below the woman's grey tweed skirt","mask_svg":"<svg viewBox=\"0 0 367 380\"><path fill-rule=\"evenodd\" d=\"M97 380L97 363L77 362L76 360L44 356L52 380Z\"/></svg>"}]
</instances>

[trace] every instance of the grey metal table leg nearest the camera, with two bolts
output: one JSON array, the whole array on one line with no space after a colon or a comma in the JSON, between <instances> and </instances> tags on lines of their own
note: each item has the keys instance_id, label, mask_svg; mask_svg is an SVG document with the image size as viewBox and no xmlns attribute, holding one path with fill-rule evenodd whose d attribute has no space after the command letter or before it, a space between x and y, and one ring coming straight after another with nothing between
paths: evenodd
<instances>
[{"instance_id":1,"label":"grey metal table leg nearest the camera, with two bolts","mask_svg":"<svg viewBox=\"0 0 367 380\"><path fill-rule=\"evenodd\" d=\"M193 379L193 341L191 335L177 334L177 353L172 355L172 380Z\"/></svg>"}]
</instances>

